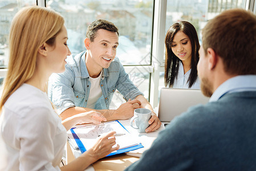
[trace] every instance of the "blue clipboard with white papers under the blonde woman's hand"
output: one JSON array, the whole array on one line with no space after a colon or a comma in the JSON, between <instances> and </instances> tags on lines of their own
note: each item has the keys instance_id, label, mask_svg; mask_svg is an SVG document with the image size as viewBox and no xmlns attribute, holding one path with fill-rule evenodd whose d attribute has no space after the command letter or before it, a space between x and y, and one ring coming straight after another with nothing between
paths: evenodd
<instances>
[{"instance_id":1,"label":"blue clipboard with white papers under the blonde woman's hand","mask_svg":"<svg viewBox=\"0 0 256 171\"><path fill-rule=\"evenodd\" d=\"M68 137L70 139L75 139L75 143L70 141L71 145L73 144L73 148L79 148L79 150L84 153L86 149L90 149L94 146L98 137L109 131L116 131L116 144L119 144L120 148L119 150L108 154L108 156L143 148L143 145L141 145L138 139L132 136L118 120L101 123L99 125L91 124L84 127L72 128L68 132Z\"/></svg>"}]
</instances>

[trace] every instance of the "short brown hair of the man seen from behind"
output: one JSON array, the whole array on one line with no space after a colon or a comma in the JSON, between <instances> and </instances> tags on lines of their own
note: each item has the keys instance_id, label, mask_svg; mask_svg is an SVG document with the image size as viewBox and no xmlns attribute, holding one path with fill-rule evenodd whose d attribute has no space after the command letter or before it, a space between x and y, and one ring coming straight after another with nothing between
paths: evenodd
<instances>
[{"instance_id":1,"label":"short brown hair of the man seen from behind","mask_svg":"<svg viewBox=\"0 0 256 171\"><path fill-rule=\"evenodd\" d=\"M226 10L202 30L202 46L220 56L228 74L256 74L256 16L243 9Z\"/></svg>"}]
</instances>

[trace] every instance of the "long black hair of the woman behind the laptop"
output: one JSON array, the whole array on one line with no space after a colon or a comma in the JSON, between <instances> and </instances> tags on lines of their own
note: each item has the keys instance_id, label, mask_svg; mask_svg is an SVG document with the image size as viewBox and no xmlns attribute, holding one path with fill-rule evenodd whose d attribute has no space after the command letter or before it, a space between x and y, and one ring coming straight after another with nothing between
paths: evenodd
<instances>
[{"instance_id":1,"label":"long black hair of the woman behind the laptop","mask_svg":"<svg viewBox=\"0 0 256 171\"><path fill-rule=\"evenodd\" d=\"M170 26L166 33L164 83L165 87L173 87L174 80L178 75L178 67L181 60L176 55L174 55L171 46L174 35L176 35L178 31L184 32L184 34L189 37L192 46L192 58L190 63L191 72L188 79L189 88L191 88L197 79L197 63L199 60L198 50L200 48L200 44L196 28L194 28L191 23L186 21L174 23L172 26Z\"/></svg>"}]
</instances>

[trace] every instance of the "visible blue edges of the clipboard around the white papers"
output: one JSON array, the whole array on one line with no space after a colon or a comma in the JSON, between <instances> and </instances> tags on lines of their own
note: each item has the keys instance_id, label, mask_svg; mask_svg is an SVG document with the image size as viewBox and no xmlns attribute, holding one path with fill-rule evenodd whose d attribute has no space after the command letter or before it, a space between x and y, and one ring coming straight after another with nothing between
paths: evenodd
<instances>
[{"instance_id":1,"label":"visible blue edges of the clipboard around the white papers","mask_svg":"<svg viewBox=\"0 0 256 171\"><path fill-rule=\"evenodd\" d=\"M124 126L118 121L118 120L115 120L117 123L119 123L123 128ZM115 122L113 121L113 122ZM72 133L72 136L74 137L75 141L76 141L76 144L78 144L78 148L79 150L84 153L86 152L86 148L84 147L82 141L79 139L78 135L76 135L75 131L74 131L75 128L71 128L70 131ZM124 128L125 129L125 128ZM125 129L128 133L129 131L127 129ZM116 150L110 154L108 154L107 156L113 156L115 154L121 154L121 153L125 153L125 152L129 152L131 150L136 150L136 149L139 149L139 148L143 148L144 146L140 143L138 145L135 145L135 146L129 146L128 148L123 148L123 149L119 149L119 150ZM106 157L107 157L106 156Z\"/></svg>"}]
</instances>

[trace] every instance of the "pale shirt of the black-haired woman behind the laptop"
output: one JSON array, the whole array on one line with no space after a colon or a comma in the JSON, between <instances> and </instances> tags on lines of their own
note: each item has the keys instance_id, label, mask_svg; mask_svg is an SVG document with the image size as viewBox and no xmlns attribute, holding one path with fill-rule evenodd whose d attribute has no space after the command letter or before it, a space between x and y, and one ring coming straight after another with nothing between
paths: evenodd
<instances>
[{"instance_id":1,"label":"pale shirt of the black-haired woman behind the laptop","mask_svg":"<svg viewBox=\"0 0 256 171\"><path fill-rule=\"evenodd\" d=\"M182 62L179 62L177 79L174 79L173 88L189 88L189 75L191 69L184 74ZM187 83L188 82L188 83ZM192 89L200 89L200 79L197 76L196 82L191 87Z\"/></svg>"}]
</instances>

